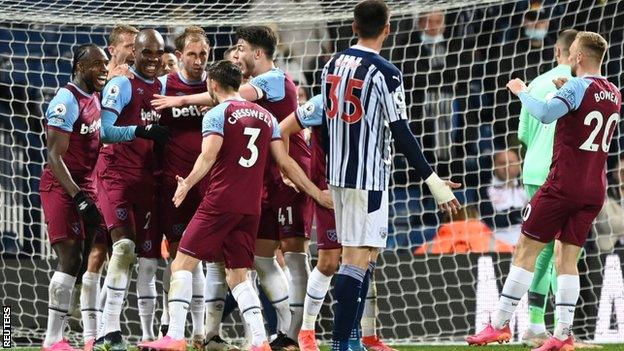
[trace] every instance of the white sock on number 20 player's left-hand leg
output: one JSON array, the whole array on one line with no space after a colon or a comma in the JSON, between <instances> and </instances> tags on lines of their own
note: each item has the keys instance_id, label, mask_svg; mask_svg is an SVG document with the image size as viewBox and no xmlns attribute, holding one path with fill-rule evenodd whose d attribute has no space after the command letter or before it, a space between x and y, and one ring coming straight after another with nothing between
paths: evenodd
<instances>
[{"instance_id":1,"label":"white sock on number 20 player's left-hand leg","mask_svg":"<svg viewBox=\"0 0 624 351\"><path fill-rule=\"evenodd\" d=\"M498 300L498 310L492 320L494 328L500 329L509 321L518 302L529 290L532 281L533 272L511 265L507 280L503 285L503 292Z\"/></svg>"}]
</instances>

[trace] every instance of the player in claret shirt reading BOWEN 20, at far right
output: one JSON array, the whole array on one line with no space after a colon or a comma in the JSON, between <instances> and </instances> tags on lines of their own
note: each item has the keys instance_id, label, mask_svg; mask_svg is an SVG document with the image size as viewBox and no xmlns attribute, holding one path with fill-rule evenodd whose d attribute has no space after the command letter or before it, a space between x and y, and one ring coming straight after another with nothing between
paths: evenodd
<instances>
[{"instance_id":1,"label":"player in claret shirt reading BOWEN 20, at far right","mask_svg":"<svg viewBox=\"0 0 624 351\"><path fill-rule=\"evenodd\" d=\"M574 350L570 330L580 291L578 256L606 196L606 160L620 121L620 92L600 75L607 47L599 34L579 32L568 59L576 78L568 80L548 102L528 94L520 79L507 84L530 115L542 123L557 121L552 166L525 211L524 235L516 245L492 324L468 337L469 344L511 338L508 322L531 285L537 256L555 240L557 324L554 335L535 350Z\"/></svg>"}]
</instances>

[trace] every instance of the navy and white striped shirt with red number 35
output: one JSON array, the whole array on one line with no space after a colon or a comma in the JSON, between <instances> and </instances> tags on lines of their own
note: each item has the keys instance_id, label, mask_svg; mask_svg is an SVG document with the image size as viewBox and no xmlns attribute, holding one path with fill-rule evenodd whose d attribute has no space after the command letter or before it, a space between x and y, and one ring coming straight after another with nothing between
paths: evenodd
<instances>
[{"instance_id":1,"label":"navy and white striped shirt with red number 35","mask_svg":"<svg viewBox=\"0 0 624 351\"><path fill-rule=\"evenodd\" d=\"M389 124L407 119L401 71L374 50L355 45L325 65L321 90L329 135L329 183L387 190Z\"/></svg>"}]
</instances>

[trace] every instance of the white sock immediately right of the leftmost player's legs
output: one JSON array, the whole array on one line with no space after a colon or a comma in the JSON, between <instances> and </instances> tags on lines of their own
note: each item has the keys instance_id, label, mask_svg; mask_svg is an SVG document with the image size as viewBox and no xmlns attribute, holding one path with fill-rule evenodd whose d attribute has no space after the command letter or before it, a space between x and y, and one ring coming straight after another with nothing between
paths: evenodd
<instances>
[{"instance_id":1,"label":"white sock immediately right of the leftmost player's legs","mask_svg":"<svg viewBox=\"0 0 624 351\"><path fill-rule=\"evenodd\" d=\"M80 290L80 313L82 315L82 337L86 343L97 336L98 297L100 295L100 274L85 272Z\"/></svg>"}]
</instances>

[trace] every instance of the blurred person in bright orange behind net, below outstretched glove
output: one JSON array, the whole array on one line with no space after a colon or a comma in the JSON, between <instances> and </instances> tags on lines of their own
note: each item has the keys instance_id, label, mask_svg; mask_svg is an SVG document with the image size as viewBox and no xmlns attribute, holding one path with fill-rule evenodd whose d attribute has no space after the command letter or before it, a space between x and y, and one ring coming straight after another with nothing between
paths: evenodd
<instances>
[{"instance_id":1,"label":"blurred person in bright orange behind net, below outstretched glove","mask_svg":"<svg viewBox=\"0 0 624 351\"><path fill-rule=\"evenodd\" d=\"M476 206L469 205L449 217L432 241L414 251L416 255L469 252L512 252L513 246L496 240L492 230L479 220Z\"/></svg>"}]
</instances>

